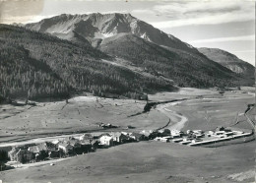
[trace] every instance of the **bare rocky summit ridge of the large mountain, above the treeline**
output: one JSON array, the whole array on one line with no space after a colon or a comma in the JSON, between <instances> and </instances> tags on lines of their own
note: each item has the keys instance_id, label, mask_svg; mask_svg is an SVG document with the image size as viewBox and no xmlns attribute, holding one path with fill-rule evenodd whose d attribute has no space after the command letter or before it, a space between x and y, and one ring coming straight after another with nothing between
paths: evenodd
<instances>
[{"instance_id":1,"label":"bare rocky summit ridge of the large mountain, above the treeline","mask_svg":"<svg viewBox=\"0 0 256 183\"><path fill-rule=\"evenodd\" d=\"M51 33L68 40L89 40L95 47L104 38L117 33L133 33L156 44L188 52L197 52L191 45L182 42L171 34L131 16L130 14L90 14L66 15L44 19L26 25L26 28Z\"/></svg>"}]
</instances>

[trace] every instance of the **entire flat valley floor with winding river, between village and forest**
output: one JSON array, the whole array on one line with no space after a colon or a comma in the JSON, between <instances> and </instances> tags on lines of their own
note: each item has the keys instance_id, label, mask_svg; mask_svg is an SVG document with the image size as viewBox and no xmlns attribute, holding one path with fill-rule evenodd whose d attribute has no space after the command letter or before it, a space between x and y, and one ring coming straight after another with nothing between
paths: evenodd
<instances>
[{"instance_id":1,"label":"entire flat valley floor with winding river, between village and forest","mask_svg":"<svg viewBox=\"0 0 256 183\"><path fill-rule=\"evenodd\" d=\"M248 89L246 89L248 90ZM108 99L95 96L77 96L56 102L38 102L36 106L0 106L1 142L23 141L36 137L48 137L70 133L102 131L100 122L111 123L126 130L128 125L135 131L152 130L183 120L172 128L210 130L217 126L228 126L235 122L238 114L243 128L250 128L243 112L252 102L251 93L225 92L214 90L182 89L177 92L160 92L149 96L154 101L187 98L182 102L160 104L148 113L128 117L142 112L145 101L133 99ZM172 111L172 112L171 112ZM187 120L186 120L187 119Z\"/></svg>"}]
</instances>

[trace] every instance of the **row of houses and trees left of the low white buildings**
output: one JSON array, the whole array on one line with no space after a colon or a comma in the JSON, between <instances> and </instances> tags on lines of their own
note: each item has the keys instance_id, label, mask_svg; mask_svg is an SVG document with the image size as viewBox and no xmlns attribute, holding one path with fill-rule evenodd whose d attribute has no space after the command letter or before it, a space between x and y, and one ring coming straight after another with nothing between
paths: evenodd
<instances>
[{"instance_id":1,"label":"row of houses and trees left of the low white buildings","mask_svg":"<svg viewBox=\"0 0 256 183\"><path fill-rule=\"evenodd\" d=\"M166 129L162 131L162 134L166 132L170 133L170 131ZM69 137L64 140L13 147L12 150L8 152L8 156L11 161L27 163L95 152L98 148L108 148L124 143L147 141L159 135L160 132L158 131L143 131L141 133L113 132L100 134L99 136L84 134L80 137Z\"/></svg>"}]
</instances>

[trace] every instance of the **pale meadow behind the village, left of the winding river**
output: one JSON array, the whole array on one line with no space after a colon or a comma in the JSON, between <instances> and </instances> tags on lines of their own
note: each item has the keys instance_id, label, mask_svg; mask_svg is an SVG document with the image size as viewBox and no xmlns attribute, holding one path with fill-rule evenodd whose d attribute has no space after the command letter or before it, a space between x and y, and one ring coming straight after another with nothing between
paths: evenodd
<instances>
[{"instance_id":1,"label":"pale meadow behind the village, left of the winding river","mask_svg":"<svg viewBox=\"0 0 256 183\"><path fill-rule=\"evenodd\" d=\"M63 133L102 131L98 127L100 122L118 125L118 130L131 125L138 131L156 129L168 122L168 118L158 110L127 117L142 112L145 104L145 101L135 102L130 99L98 98L96 102L95 96L78 96L70 99L68 104L65 101L37 103L37 106L26 110L2 105L1 113L5 117L0 119L1 142Z\"/></svg>"}]
</instances>

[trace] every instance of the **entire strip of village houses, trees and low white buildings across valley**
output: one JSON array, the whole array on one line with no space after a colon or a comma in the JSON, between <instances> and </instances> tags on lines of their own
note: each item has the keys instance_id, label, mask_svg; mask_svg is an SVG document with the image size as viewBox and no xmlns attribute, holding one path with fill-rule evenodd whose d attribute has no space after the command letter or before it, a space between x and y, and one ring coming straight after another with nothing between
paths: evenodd
<instances>
[{"instance_id":1,"label":"entire strip of village houses, trees and low white buildings across valley","mask_svg":"<svg viewBox=\"0 0 256 183\"><path fill-rule=\"evenodd\" d=\"M12 147L8 152L10 161L7 164L33 163L43 160L65 158L88 152L96 152L97 149L105 149L126 143L140 141L173 142L190 147L218 145L235 139L248 141L246 137L254 138L253 132L249 130L238 131L232 128L218 127L214 131L161 129L141 132L110 132L100 135L84 134L78 137L67 137L62 140L44 142L40 144L29 144ZM250 139L252 140L252 139ZM211 147L211 146L210 146ZM213 146L212 146L213 147ZM12 163L13 162L13 163ZM51 164L54 165L54 164Z\"/></svg>"}]
</instances>

